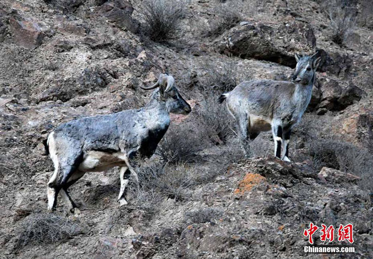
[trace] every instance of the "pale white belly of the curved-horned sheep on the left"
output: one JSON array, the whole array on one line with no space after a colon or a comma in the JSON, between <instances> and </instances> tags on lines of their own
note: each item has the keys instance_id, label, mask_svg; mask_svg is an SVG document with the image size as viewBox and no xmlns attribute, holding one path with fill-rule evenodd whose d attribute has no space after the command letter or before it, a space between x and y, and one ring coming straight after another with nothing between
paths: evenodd
<instances>
[{"instance_id":1,"label":"pale white belly of the curved-horned sheep on the left","mask_svg":"<svg viewBox=\"0 0 373 259\"><path fill-rule=\"evenodd\" d=\"M125 166L123 153L88 151L79 165L83 172L102 172L115 166Z\"/></svg>"}]
</instances>

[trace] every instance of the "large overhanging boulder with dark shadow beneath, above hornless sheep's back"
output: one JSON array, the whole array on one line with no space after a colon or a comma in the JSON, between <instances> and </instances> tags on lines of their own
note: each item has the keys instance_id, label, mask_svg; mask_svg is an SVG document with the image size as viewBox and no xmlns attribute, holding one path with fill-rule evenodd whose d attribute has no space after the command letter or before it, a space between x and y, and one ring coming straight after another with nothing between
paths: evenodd
<instances>
[{"instance_id":1,"label":"large overhanging boulder with dark shadow beneath, above hornless sheep's back","mask_svg":"<svg viewBox=\"0 0 373 259\"><path fill-rule=\"evenodd\" d=\"M214 42L216 51L241 58L266 60L295 67L295 52L313 52L314 30L309 23L294 21L278 27L243 23L223 33Z\"/></svg>"}]
</instances>

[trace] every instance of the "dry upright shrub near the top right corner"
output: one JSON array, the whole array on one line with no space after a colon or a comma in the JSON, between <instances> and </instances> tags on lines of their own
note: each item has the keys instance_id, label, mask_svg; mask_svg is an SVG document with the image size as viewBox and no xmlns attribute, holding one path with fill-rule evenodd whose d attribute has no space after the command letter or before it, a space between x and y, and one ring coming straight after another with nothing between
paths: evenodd
<instances>
[{"instance_id":1,"label":"dry upright shrub near the top right corner","mask_svg":"<svg viewBox=\"0 0 373 259\"><path fill-rule=\"evenodd\" d=\"M333 31L332 41L338 45L346 43L347 37L356 27L356 19L344 6L343 1L333 0L328 4L329 24Z\"/></svg>"}]
</instances>

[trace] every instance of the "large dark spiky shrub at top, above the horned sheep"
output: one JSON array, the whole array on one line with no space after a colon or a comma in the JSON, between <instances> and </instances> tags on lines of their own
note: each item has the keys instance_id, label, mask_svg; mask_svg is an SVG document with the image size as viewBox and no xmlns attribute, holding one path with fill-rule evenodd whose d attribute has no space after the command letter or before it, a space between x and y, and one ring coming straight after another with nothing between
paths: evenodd
<instances>
[{"instance_id":1,"label":"large dark spiky shrub at top, above the horned sheep","mask_svg":"<svg viewBox=\"0 0 373 259\"><path fill-rule=\"evenodd\" d=\"M138 5L138 12L145 19L148 37L155 42L177 38L187 3L187 0L143 0Z\"/></svg>"}]
</instances>

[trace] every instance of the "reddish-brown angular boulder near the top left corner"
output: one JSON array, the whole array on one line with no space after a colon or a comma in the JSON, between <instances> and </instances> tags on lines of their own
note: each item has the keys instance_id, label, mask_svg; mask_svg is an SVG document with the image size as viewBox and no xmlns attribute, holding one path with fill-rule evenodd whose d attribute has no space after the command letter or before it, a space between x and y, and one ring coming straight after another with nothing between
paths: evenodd
<instances>
[{"instance_id":1,"label":"reddish-brown angular boulder near the top left corner","mask_svg":"<svg viewBox=\"0 0 373 259\"><path fill-rule=\"evenodd\" d=\"M44 38L38 23L26 21L22 18L9 19L9 28L13 35L13 41L19 46L34 49L38 47Z\"/></svg>"}]
</instances>

